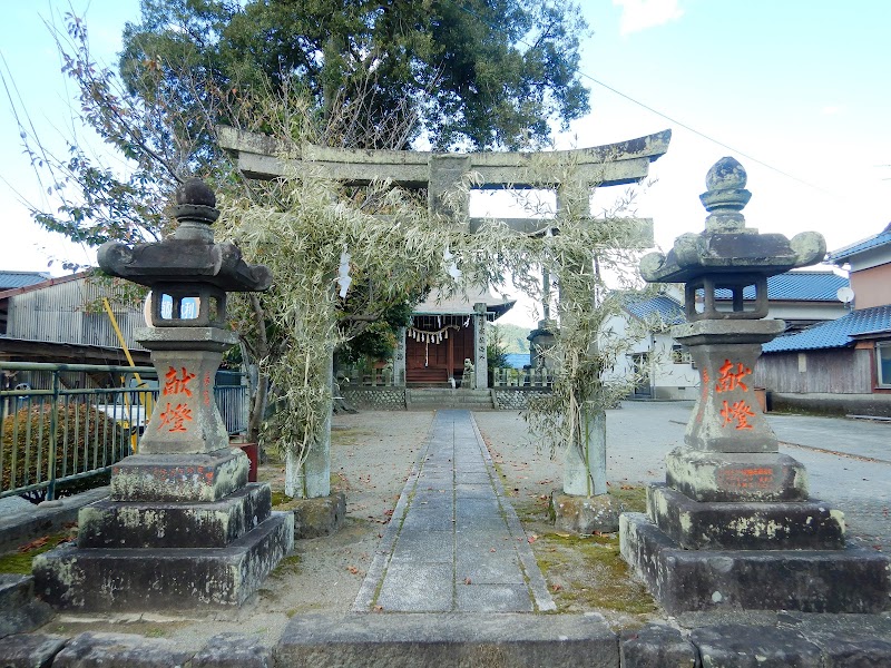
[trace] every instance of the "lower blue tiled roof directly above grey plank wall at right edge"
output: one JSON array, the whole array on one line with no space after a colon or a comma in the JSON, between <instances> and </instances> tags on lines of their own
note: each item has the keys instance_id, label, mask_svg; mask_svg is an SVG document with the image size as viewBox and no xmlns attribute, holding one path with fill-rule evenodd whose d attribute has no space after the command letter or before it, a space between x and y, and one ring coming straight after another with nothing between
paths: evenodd
<instances>
[{"instance_id":1,"label":"lower blue tiled roof directly above grey plank wall at right edge","mask_svg":"<svg viewBox=\"0 0 891 668\"><path fill-rule=\"evenodd\" d=\"M819 323L802 332L779 336L764 344L765 353L849 347L858 334L891 334L891 305L852 311L835 321Z\"/></svg>"}]
</instances>

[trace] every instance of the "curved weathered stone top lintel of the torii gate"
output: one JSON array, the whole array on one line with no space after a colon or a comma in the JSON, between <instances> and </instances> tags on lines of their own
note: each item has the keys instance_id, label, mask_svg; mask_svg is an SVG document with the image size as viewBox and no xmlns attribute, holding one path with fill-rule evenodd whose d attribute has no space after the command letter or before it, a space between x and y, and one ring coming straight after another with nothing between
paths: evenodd
<instances>
[{"instance_id":1,"label":"curved weathered stone top lintel of the torii gate","mask_svg":"<svg viewBox=\"0 0 891 668\"><path fill-rule=\"evenodd\" d=\"M522 183L522 171L533 158L571 164L575 178L598 186L637 183L649 173L649 164L668 150L672 130L628 139L604 146L546 153L491 151L471 154L438 154L410 150L364 150L325 148L304 145L284 147L274 137L219 126L221 147L232 155L241 171L248 178L273 179L285 174L283 155L290 160L311 163L326 176L351 186L370 184L374 178L389 178L407 188L427 188L431 180L431 164L441 159L460 161L461 171L480 175L483 188L541 187L540 183ZM458 167L456 165L456 167ZM550 184L558 186L559 181Z\"/></svg>"}]
</instances>

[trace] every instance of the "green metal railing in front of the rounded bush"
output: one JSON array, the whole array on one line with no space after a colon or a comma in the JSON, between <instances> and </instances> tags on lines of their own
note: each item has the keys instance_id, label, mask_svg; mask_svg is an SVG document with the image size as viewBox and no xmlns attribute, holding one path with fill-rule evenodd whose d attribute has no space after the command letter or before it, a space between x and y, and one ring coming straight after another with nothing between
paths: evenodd
<instances>
[{"instance_id":1,"label":"green metal railing in front of the rounded bush","mask_svg":"<svg viewBox=\"0 0 891 668\"><path fill-rule=\"evenodd\" d=\"M29 381L0 391L0 498L51 500L59 484L109 471L136 452L158 393L154 367L0 362L0 372ZM119 385L70 386L88 375ZM247 387L216 385L215 397L227 431L243 432Z\"/></svg>"}]
</instances>

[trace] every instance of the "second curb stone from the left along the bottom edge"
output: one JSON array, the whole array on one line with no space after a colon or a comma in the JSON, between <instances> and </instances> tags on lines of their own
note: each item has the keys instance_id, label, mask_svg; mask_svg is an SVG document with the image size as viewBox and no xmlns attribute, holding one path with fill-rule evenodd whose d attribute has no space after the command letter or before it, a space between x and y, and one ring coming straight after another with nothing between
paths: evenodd
<instances>
[{"instance_id":1,"label":"second curb stone from the left along the bottom edge","mask_svg":"<svg viewBox=\"0 0 891 668\"><path fill-rule=\"evenodd\" d=\"M166 638L86 632L71 639L52 668L182 668L192 656Z\"/></svg>"}]
</instances>

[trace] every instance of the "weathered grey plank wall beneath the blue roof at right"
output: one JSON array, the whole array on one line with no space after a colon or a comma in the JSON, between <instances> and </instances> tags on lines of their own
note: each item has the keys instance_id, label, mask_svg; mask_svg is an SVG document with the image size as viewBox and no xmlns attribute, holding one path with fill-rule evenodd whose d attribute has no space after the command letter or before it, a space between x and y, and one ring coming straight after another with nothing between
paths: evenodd
<instances>
[{"instance_id":1,"label":"weathered grey plank wall beneath the blue roof at right","mask_svg":"<svg viewBox=\"0 0 891 668\"><path fill-rule=\"evenodd\" d=\"M872 355L868 350L771 353L758 358L755 384L773 392L799 394L869 394L872 392Z\"/></svg>"}]
</instances>

